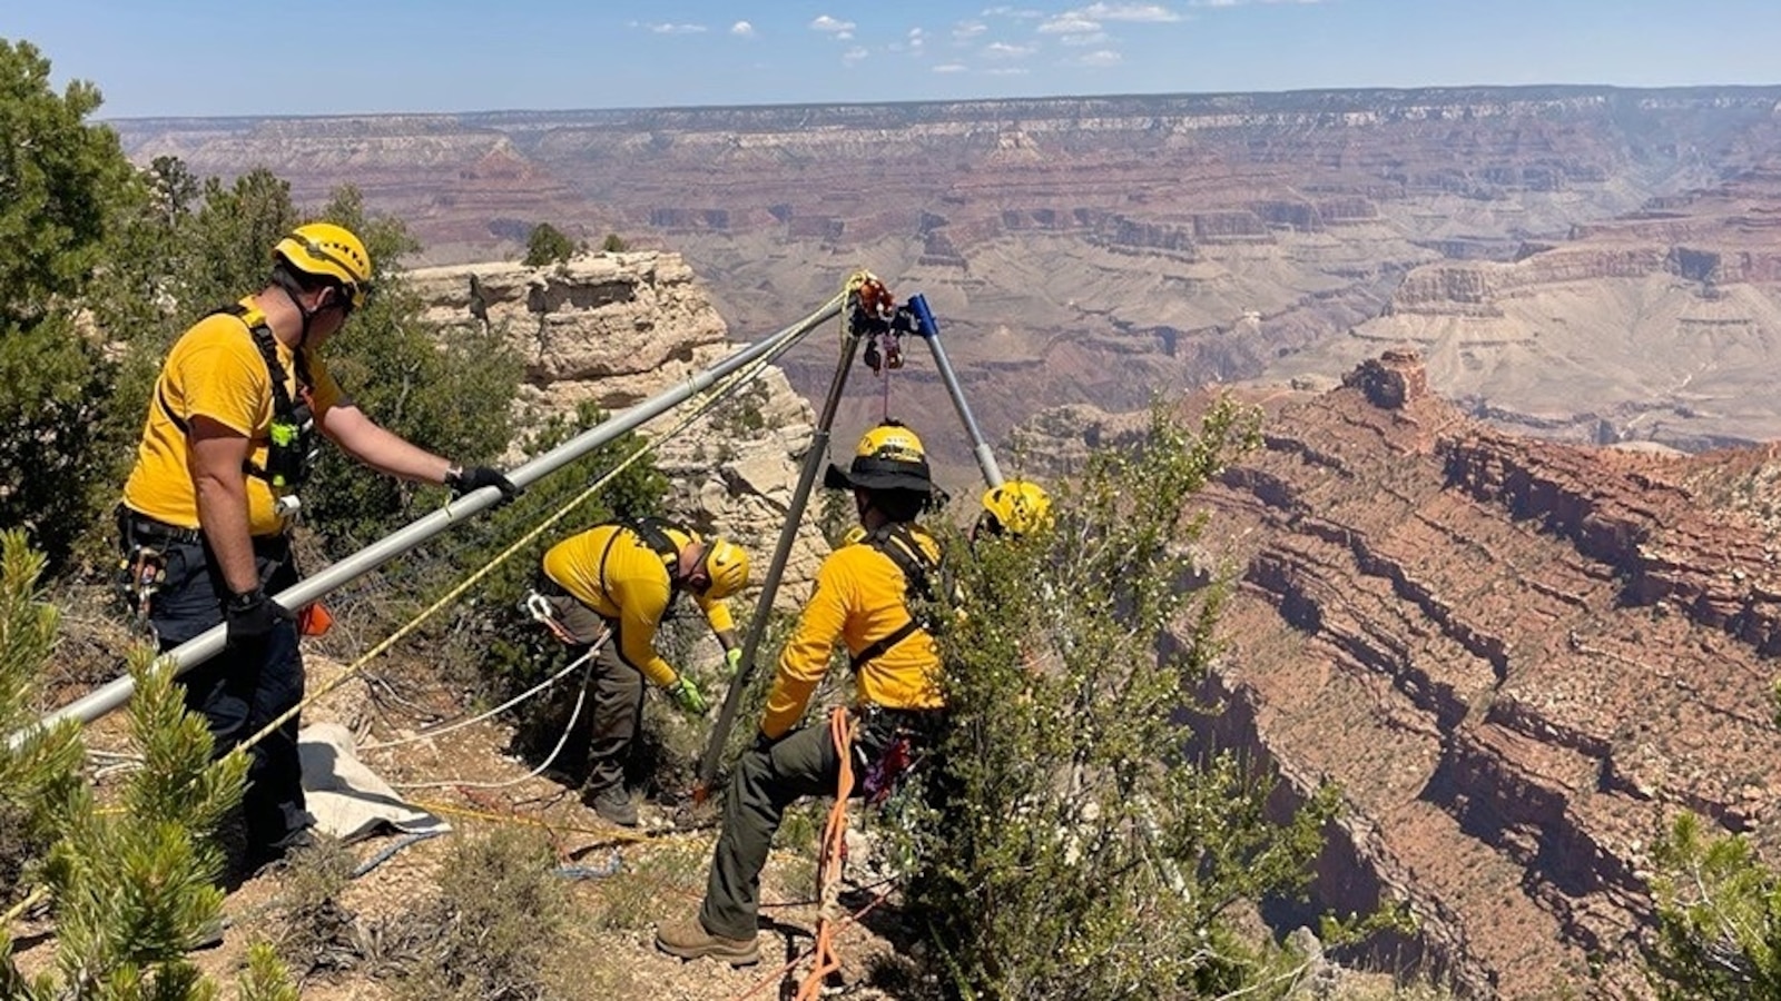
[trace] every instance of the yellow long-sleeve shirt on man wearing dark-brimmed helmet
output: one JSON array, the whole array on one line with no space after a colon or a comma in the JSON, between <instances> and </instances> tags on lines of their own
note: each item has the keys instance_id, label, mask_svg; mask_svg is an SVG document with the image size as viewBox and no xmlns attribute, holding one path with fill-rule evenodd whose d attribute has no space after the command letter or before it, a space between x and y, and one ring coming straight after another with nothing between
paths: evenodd
<instances>
[{"instance_id":1,"label":"yellow long-sleeve shirt on man wearing dark-brimmed helmet","mask_svg":"<svg viewBox=\"0 0 1781 1001\"><path fill-rule=\"evenodd\" d=\"M915 529L919 545L939 557L931 536ZM798 725L810 693L828 671L835 643L846 643L858 655L878 639L910 622L903 570L871 545L844 545L832 552L816 572L816 593L798 616L798 627L780 654L778 675L768 695L760 732L778 739ZM862 702L887 709L939 709L940 650L926 629L917 629L883 654L867 661L858 673Z\"/></svg>"}]
</instances>

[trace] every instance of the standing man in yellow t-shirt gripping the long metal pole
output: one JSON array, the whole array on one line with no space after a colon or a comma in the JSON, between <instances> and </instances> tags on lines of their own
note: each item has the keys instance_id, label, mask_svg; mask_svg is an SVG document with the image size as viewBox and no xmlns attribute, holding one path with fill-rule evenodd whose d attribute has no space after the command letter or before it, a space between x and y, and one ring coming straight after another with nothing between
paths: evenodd
<instances>
[{"instance_id":1,"label":"standing man in yellow t-shirt gripping the long metal pole","mask_svg":"<svg viewBox=\"0 0 1781 1001\"><path fill-rule=\"evenodd\" d=\"M317 435L354 460L459 493L516 490L499 470L463 470L379 427L340 390L321 349L370 294L370 255L331 223L272 248L267 285L199 319L160 369L118 524L160 648L226 623L224 650L180 680L226 753L303 700L290 614L267 598L297 581L285 534ZM308 841L297 720L249 750L246 859L235 876ZM242 869L246 864L246 869Z\"/></svg>"}]
</instances>

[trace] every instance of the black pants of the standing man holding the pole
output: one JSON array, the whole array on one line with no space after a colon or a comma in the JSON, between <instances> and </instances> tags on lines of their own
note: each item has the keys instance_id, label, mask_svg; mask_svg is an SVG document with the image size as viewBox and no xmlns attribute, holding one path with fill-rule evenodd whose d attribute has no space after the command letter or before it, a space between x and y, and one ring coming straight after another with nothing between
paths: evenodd
<instances>
[{"instance_id":1,"label":"black pants of the standing man holding the pole","mask_svg":"<svg viewBox=\"0 0 1781 1001\"><path fill-rule=\"evenodd\" d=\"M228 586L203 541L166 541L137 534L166 559L166 579L150 600L148 618L162 652L223 623ZM130 540L125 540L130 547ZM297 566L283 538L255 540L255 563L267 593L297 582ZM223 757L267 723L303 702L303 652L294 622L280 622L264 643L224 647L180 675L185 707L199 712ZM248 748L248 862L283 855L315 823L305 809L303 766L297 761L297 718Z\"/></svg>"}]
</instances>

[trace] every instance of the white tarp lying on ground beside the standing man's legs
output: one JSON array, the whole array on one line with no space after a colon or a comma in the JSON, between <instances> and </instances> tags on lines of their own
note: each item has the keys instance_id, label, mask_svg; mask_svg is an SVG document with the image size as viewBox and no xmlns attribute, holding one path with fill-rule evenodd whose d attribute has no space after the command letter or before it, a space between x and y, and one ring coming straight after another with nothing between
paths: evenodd
<instances>
[{"instance_id":1,"label":"white tarp lying on ground beside the standing man's legs","mask_svg":"<svg viewBox=\"0 0 1781 1001\"><path fill-rule=\"evenodd\" d=\"M338 723L317 723L297 734L303 793L322 834L353 842L376 834L443 834L451 825L404 803L395 789L358 761L353 734Z\"/></svg>"}]
</instances>

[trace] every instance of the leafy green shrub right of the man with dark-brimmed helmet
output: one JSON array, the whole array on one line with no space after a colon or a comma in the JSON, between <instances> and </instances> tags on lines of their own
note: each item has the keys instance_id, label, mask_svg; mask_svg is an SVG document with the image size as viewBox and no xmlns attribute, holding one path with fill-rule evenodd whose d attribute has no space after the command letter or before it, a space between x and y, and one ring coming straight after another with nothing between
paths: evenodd
<instances>
[{"instance_id":1,"label":"leafy green shrub right of the man with dark-brimmed helmet","mask_svg":"<svg viewBox=\"0 0 1781 1001\"><path fill-rule=\"evenodd\" d=\"M1058 492L1054 531L949 543L955 728L910 891L949 994L1181 997L1263 976L1266 942L1232 907L1307 882L1336 800L1272 823L1272 782L1190 753L1179 723L1229 591L1181 590L1204 527L1188 511L1256 440L1231 403L1197 433L1158 406L1140 445Z\"/></svg>"}]
</instances>

